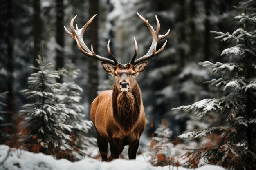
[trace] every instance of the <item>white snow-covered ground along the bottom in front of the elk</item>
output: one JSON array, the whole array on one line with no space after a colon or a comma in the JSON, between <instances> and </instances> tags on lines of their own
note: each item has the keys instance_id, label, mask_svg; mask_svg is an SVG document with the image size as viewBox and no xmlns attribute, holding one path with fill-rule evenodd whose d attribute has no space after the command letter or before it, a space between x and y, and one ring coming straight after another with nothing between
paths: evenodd
<instances>
[{"instance_id":1,"label":"white snow-covered ground along the bottom in front of the elk","mask_svg":"<svg viewBox=\"0 0 256 170\"><path fill-rule=\"evenodd\" d=\"M140 159L143 160L143 159ZM139 160L117 159L100 162L86 158L77 162L66 159L56 160L52 156L42 153L31 153L16 150L6 145L0 145L0 170L188 170L182 167L154 167L150 163ZM225 170L220 166L205 165L196 170Z\"/></svg>"}]
</instances>

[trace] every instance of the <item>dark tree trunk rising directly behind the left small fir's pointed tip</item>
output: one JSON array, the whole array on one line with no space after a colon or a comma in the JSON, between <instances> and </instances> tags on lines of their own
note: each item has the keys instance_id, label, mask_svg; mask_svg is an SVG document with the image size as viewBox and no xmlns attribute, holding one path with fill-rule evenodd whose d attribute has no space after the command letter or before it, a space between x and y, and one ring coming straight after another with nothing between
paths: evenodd
<instances>
[{"instance_id":1,"label":"dark tree trunk rising directly behind the left small fir's pointed tip","mask_svg":"<svg viewBox=\"0 0 256 170\"><path fill-rule=\"evenodd\" d=\"M36 59L40 52L40 44L42 40L42 20L40 18L40 0L33 0L33 37L34 37L34 48L33 48L33 65L38 67ZM34 70L36 72L36 70Z\"/></svg>"}]
</instances>

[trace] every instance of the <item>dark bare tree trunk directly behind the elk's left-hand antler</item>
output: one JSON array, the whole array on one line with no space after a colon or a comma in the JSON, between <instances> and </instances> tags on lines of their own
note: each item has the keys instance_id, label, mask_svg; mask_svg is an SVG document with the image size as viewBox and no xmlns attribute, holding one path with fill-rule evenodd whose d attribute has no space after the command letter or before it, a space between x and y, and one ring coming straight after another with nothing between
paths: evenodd
<instances>
[{"instance_id":1,"label":"dark bare tree trunk directly behind the elk's left-hand antler","mask_svg":"<svg viewBox=\"0 0 256 170\"><path fill-rule=\"evenodd\" d=\"M90 17L98 13L98 0L90 0ZM90 24L90 40L93 44L94 52L98 51L98 17L94 18L93 22ZM98 87L98 62L93 58L88 58L89 68L89 104L97 97L97 87ZM90 116L89 116L90 117Z\"/></svg>"}]
</instances>

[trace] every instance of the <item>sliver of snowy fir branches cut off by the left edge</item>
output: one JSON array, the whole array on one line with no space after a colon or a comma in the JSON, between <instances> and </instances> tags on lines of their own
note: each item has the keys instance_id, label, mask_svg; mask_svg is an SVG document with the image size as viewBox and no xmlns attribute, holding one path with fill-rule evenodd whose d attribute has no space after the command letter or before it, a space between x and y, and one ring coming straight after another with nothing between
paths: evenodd
<instances>
[{"instance_id":1,"label":"sliver of snowy fir branches cut off by the left edge","mask_svg":"<svg viewBox=\"0 0 256 170\"><path fill-rule=\"evenodd\" d=\"M0 93L0 144L3 144L2 142L7 135L6 132L4 132L4 127L9 125L6 122L3 124L4 118L2 116L3 114L7 113L7 111L4 111L4 107L7 106L7 104L2 101L2 99L4 99L4 95L7 93L8 91Z\"/></svg>"}]
</instances>

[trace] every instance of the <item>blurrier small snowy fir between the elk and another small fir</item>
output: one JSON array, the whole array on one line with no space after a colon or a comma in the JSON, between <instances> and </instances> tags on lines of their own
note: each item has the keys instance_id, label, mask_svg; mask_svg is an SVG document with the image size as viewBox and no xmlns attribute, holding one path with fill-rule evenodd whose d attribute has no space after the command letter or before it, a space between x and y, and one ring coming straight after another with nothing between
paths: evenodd
<instances>
[{"instance_id":1,"label":"blurrier small snowy fir between the elk and another small fir","mask_svg":"<svg viewBox=\"0 0 256 170\"><path fill-rule=\"evenodd\" d=\"M79 104L81 100L80 93L83 89L77 85L74 81L78 76L79 69L74 69L74 64L71 62L65 65L65 71L63 71L63 77L67 82L61 84L61 92L58 94L58 100L60 103L66 105L67 115L65 124L72 126L72 130L69 134L72 137L71 154L67 154L65 158L70 161L77 161L83 159L86 155L87 148L96 145L96 139L88 137L88 131L92 127L92 121L85 119L85 113L83 113L84 107ZM65 81L64 79L64 81Z\"/></svg>"}]
</instances>

